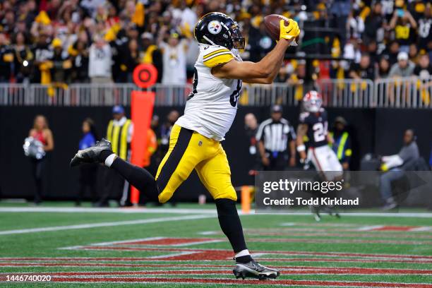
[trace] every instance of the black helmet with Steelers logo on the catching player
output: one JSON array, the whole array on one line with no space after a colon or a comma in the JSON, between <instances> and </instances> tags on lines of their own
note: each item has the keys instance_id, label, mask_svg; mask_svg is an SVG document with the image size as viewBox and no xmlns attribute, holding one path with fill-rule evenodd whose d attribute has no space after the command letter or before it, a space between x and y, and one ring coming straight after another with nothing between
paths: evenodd
<instances>
[{"instance_id":1,"label":"black helmet with Steelers logo on the catching player","mask_svg":"<svg viewBox=\"0 0 432 288\"><path fill-rule=\"evenodd\" d=\"M195 38L199 43L244 49L244 37L239 25L231 17L211 12L201 17L195 26Z\"/></svg>"}]
</instances>

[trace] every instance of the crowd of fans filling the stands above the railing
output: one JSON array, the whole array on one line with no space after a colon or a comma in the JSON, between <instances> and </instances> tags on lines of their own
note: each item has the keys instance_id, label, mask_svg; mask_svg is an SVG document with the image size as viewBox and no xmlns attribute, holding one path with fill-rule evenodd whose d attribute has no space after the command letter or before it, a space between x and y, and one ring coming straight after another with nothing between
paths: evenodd
<instances>
[{"instance_id":1,"label":"crowd of fans filling the stands above the railing","mask_svg":"<svg viewBox=\"0 0 432 288\"><path fill-rule=\"evenodd\" d=\"M259 61L275 45L264 16L282 14L304 27L299 47L289 51L296 57L287 54L277 82L301 84L309 74L372 80L432 75L430 1L4 0L0 82L126 83L138 64L150 63L158 82L184 84L198 52L194 25L210 11L239 23L244 60ZM310 71L299 59L308 54L337 60L317 59Z\"/></svg>"}]
</instances>

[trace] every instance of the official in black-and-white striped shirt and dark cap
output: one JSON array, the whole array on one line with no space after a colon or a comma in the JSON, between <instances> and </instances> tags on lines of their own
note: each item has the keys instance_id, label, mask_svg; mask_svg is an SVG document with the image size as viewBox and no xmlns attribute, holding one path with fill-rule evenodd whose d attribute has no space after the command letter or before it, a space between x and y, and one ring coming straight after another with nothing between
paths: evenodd
<instances>
[{"instance_id":1,"label":"official in black-and-white striped shirt and dark cap","mask_svg":"<svg viewBox=\"0 0 432 288\"><path fill-rule=\"evenodd\" d=\"M288 163L290 167L296 165L296 133L288 120L282 118L282 106L273 105L270 115L270 119L260 124L256 140L264 170L282 171Z\"/></svg>"}]
</instances>

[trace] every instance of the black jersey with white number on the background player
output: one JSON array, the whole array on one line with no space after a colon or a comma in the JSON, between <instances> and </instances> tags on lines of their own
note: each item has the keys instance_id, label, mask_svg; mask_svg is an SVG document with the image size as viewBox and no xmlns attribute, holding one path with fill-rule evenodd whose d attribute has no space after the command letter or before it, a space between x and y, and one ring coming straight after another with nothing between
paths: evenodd
<instances>
[{"instance_id":1,"label":"black jersey with white number on the background player","mask_svg":"<svg viewBox=\"0 0 432 288\"><path fill-rule=\"evenodd\" d=\"M319 112L303 112L300 114L300 124L308 125L308 146L320 147L328 145L328 120L327 112L320 108Z\"/></svg>"}]
</instances>

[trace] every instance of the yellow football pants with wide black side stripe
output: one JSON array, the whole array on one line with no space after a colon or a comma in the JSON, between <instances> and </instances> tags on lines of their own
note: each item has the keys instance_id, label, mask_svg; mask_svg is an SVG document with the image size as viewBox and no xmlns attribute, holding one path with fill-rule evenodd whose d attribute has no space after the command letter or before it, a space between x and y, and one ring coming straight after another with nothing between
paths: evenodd
<instances>
[{"instance_id":1,"label":"yellow football pants with wide black side stripe","mask_svg":"<svg viewBox=\"0 0 432 288\"><path fill-rule=\"evenodd\" d=\"M167 202L193 169L213 198L237 200L227 154L220 142L174 125L169 137L169 150L156 174L159 202Z\"/></svg>"}]
</instances>

